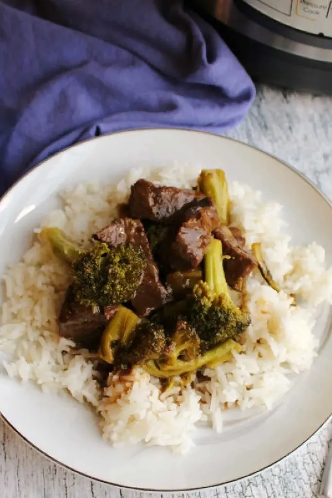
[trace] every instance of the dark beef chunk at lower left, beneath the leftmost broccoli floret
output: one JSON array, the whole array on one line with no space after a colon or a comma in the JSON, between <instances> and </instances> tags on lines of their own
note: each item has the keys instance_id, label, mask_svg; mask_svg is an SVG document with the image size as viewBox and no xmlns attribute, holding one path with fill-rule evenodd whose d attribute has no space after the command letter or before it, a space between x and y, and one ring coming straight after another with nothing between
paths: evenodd
<instances>
[{"instance_id":1,"label":"dark beef chunk at lower left, beneath the leftmost broccoli floret","mask_svg":"<svg viewBox=\"0 0 332 498\"><path fill-rule=\"evenodd\" d=\"M91 306L78 303L72 286L69 287L59 317L60 336L72 339L79 347L94 349L107 322L102 312L93 313Z\"/></svg>"}]
</instances>

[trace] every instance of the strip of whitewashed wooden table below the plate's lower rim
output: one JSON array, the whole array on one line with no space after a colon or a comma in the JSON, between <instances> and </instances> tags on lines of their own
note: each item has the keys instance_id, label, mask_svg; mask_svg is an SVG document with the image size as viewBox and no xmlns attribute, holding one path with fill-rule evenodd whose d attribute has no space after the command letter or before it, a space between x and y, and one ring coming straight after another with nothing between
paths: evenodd
<instances>
[{"instance_id":1,"label":"strip of whitewashed wooden table below the plate's lower rim","mask_svg":"<svg viewBox=\"0 0 332 498\"><path fill-rule=\"evenodd\" d=\"M323 463L332 438L332 422L296 454L242 483L193 497L312 498L319 491ZM136 498L146 496L90 481L49 462L0 422L1 498ZM153 497L160 495L153 495ZM163 495L163 497L182 495ZM186 495L187 497L187 495ZM189 496L188 496L189 498Z\"/></svg>"}]
</instances>

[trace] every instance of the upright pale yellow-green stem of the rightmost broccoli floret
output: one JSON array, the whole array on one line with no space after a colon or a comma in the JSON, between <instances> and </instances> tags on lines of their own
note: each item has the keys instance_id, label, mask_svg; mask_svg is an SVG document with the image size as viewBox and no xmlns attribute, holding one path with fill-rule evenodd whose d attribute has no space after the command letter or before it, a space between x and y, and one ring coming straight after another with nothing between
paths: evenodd
<instances>
[{"instance_id":1,"label":"upright pale yellow-green stem of the rightmost broccoli floret","mask_svg":"<svg viewBox=\"0 0 332 498\"><path fill-rule=\"evenodd\" d=\"M225 279L222 265L221 241L213 239L204 257L205 281L217 296L228 294L228 285Z\"/></svg>"}]
</instances>

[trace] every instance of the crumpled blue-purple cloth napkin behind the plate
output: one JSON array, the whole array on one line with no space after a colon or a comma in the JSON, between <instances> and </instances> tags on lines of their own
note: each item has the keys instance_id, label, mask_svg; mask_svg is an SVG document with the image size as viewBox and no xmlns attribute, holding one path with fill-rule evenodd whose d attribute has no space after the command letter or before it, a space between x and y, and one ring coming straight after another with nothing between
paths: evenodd
<instances>
[{"instance_id":1,"label":"crumpled blue-purple cloth napkin behind the plate","mask_svg":"<svg viewBox=\"0 0 332 498\"><path fill-rule=\"evenodd\" d=\"M221 37L181 0L0 0L0 194L101 133L221 132L254 94Z\"/></svg>"}]
</instances>

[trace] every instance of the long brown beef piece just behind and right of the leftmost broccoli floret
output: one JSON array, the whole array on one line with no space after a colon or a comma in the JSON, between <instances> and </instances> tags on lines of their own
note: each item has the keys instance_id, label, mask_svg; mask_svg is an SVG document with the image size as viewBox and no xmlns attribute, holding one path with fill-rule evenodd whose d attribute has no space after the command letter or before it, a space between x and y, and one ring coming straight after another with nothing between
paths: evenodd
<instances>
[{"instance_id":1,"label":"long brown beef piece just behind and right of the leftmost broccoli floret","mask_svg":"<svg viewBox=\"0 0 332 498\"><path fill-rule=\"evenodd\" d=\"M136 295L131 300L138 316L146 316L153 309L160 308L169 300L169 294L159 280L159 270L151 254L144 227L139 220L122 218L101 230L95 238L111 246L130 243L141 247L147 258L146 270L143 274Z\"/></svg>"}]
</instances>

